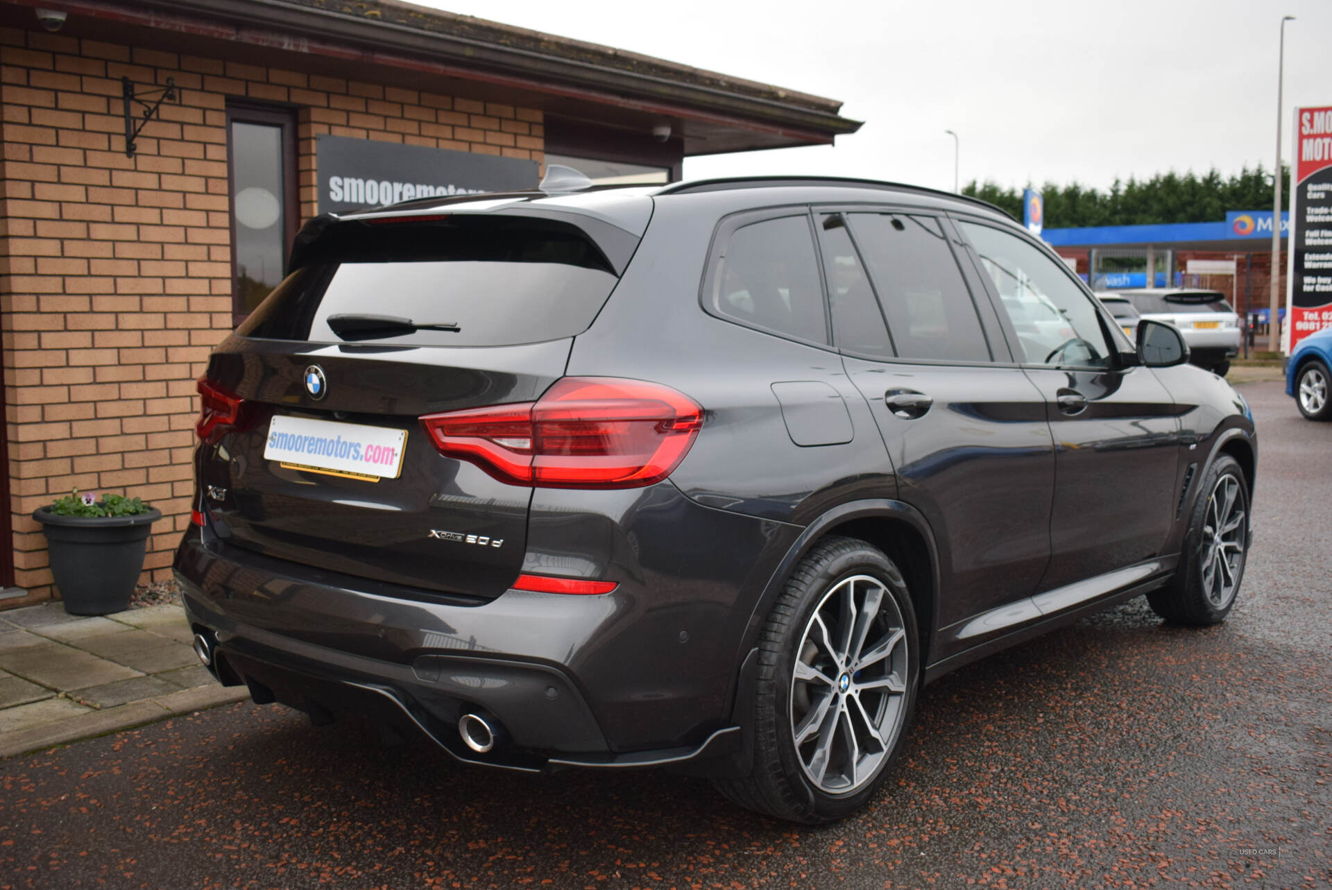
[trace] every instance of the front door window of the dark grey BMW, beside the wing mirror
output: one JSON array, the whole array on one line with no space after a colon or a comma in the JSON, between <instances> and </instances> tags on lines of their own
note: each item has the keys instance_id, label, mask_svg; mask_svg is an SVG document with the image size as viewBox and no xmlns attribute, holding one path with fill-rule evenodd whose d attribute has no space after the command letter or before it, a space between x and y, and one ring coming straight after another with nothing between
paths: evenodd
<instances>
[{"instance_id":1,"label":"front door window of the dark grey BMW, beside the wing mirror","mask_svg":"<svg viewBox=\"0 0 1332 890\"><path fill-rule=\"evenodd\" d=\"M1110 365L1111 349L1091 297L1054 260L1008 232L959 225L980 254L1028 364Z\"/></svg>"}]
</instances>

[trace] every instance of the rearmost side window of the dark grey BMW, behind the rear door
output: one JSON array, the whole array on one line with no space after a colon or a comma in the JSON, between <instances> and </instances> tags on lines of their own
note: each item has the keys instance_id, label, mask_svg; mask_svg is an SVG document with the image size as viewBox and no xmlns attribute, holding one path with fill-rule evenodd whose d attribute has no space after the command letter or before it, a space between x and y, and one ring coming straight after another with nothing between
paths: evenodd
<instances>
[{"instance_id":1,"label":"rearmost side window of the dark grey BMW, behind the rear door","mask_svg":"<svg viewBox=\"0 0 1332 890\"><path fill-rule=\"evenodd\" d=\"M731 232L710 298L719 314L746 325L829 342L809 217L762 220Z\"/></svg>"}]
</instances>

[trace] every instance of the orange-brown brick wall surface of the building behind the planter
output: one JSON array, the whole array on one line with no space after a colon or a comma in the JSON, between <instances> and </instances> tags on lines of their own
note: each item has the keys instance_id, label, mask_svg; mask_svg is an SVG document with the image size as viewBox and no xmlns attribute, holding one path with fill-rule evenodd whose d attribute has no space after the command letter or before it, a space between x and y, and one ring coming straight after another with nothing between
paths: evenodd
<instances>
[{"instance_id":1,"label":"orange-brown brick wall surface of the building behind the planter","mask_svg":"<svg viewBox=\"0 0 1332 890\"><path fill-rule=\"evenodd\" d=\"M123 76L181 88L132 159ZM161 509L143 581L170 574L193 493L194 380L232 325L228 99L297 109L302 219L320 133L543 159L538 111L0 29L9 509L15 581L29 590L5 606L53 596L31 514L72 488Z\"/></svg>"}]
</instances>

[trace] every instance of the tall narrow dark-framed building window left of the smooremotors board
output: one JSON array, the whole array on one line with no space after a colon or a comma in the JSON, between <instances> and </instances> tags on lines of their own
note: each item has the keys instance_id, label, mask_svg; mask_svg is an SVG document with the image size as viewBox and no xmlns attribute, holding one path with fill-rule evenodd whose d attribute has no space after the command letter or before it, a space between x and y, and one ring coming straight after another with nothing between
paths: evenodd
<instances>
[{"instance_id":1,"label":"tall narrow dark-framed building window left of the smooremotors board","mask_svg":"<svg viewBox=\"0 0 1332 890\"><path fill-rule=\"evenodd\" d=\"M236 324L282 280L296 236L296 121L290 112L226 109Z\"/></svg>"}]
</instances>

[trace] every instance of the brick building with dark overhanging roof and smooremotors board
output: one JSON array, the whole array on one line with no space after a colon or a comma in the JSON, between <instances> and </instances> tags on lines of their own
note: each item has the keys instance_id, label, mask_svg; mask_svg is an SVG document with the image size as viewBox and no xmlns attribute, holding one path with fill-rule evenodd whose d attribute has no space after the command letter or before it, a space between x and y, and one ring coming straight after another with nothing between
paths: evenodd
<instances>
[{"instance_id":1,"label":"brick building with dark overhanging roof and smooremotors board","mask_svg":"<svg viewBox=\"0 0 1332 890\"><path fill-rule=\"evenodd\" d=\"M859 127L836 101L658 59L322 0L8 0L0 105L0 608L55 596L31 513L73 488L159 506L144 580L169 576L194 380L333 197L533 187L554 160L666 181L689 155ZM357 157L417 176L321 171Z\"/></svg>"}]
</instances>

